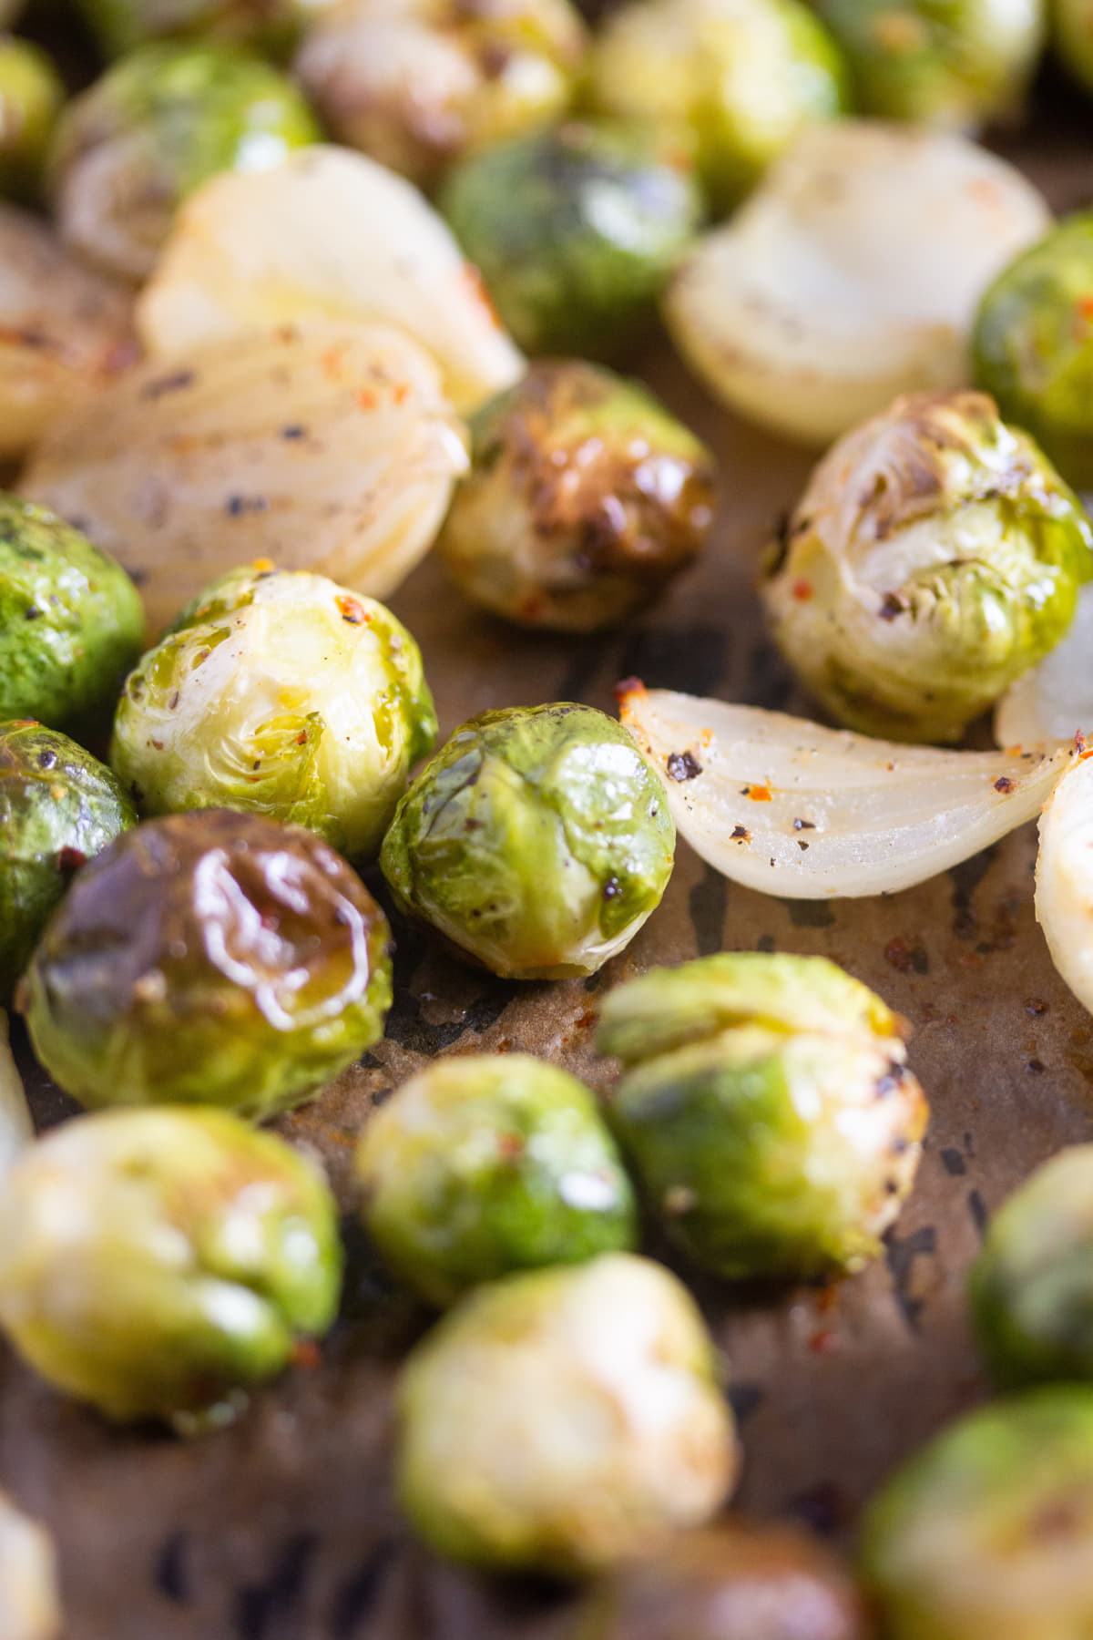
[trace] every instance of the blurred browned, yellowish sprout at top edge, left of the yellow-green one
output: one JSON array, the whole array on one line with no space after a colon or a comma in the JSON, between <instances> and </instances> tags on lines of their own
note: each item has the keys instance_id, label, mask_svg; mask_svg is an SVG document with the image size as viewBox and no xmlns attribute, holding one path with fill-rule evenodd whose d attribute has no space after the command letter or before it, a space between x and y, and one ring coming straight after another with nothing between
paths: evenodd
<instances>
[{"instance_id":1,"label":"blurred browned, yellowish sprout at top edge, left of the yellow-green one","mask_svg":"<svg viewBox=\"0 0 1093 1640\"><path fill-rule=\"evenodd\" d=\"M339 143L433 187L564 115L583 51L569 0L342 0L295 67Z\"/></svg>"}]
</instances>

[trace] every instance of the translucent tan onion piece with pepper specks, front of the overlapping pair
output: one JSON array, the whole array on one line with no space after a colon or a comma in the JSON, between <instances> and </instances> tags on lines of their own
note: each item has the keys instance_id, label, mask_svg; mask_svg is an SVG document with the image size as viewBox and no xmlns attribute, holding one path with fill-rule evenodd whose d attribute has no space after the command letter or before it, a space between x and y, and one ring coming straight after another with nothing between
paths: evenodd
<instances>
[{"instance_id":1,"label":"translucent tan onion piece with pepper specks, front of the overlapping pair","mask_svg":"<svg viewBox=\"0 0 1093 1640\"><path fill-rule=\"evenodd\" d=\"M464 440L411 336L311 318L149 359L54 428L21 489L118 554L159 636L254 559L393 592L444 520Z\"/></svg>"}]
</instances>

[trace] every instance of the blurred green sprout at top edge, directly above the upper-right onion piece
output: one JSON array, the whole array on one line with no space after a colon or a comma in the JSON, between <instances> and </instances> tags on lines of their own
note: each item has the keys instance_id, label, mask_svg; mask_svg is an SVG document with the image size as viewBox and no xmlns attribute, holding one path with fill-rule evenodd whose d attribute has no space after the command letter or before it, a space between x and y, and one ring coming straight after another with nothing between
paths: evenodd
<instances>
[{"instance_id":1,"label":"blurred green sprout at top edge, directly above the upper-right onion piece","mask_svg":"<svg viewBox=\"0 0 1093 1640\"><path fill-rule=\"evenodd\" d=\"M862 113L968 131L1013 116L1044 46L1044 0L819 0Z\"/></svg>"}]
</instances>

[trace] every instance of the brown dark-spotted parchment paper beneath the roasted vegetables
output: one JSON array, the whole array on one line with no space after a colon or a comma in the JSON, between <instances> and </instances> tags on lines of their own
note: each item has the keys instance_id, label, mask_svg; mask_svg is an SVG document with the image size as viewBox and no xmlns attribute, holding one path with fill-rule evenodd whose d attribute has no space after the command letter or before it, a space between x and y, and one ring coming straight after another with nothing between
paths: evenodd
<instances>
[{"instance_id":1,"label":"brown dark-spotted parchment paper beneath the roasted vegetables","mask_svg":"<svg viewBox=\"0 0 1093 1640\"><path fill-rule=\"evenodd\" d=\"M1059 100L1052 87L1042 105ZM1086 203L1088 105L1070 121L1057 110L1045 118L1011 156L1057 208ZM392 602L423 646L442 733L500 705L611 710L613 682L631 674L808 710L764 636L751 579L810 456L714 408L667 346L642 374L721 459L724 507L708 556L647 618L572 641L472 612L426 563ZM349 1215L354 1135L372 1100L433 1055L524 1050L606 1086L590 1040L596 994L721 948L821 953L875 986L914 1028L911 1063L932 1104L919 1181L885 1258L836 1287L759 1296L685 1271L741 1420L737 1502L846 1540L891 1465L986 1394L964 1276L991 1209L1093 1130L1093 1020L1036 927L1034 858L1026 827L919 889L818 904L739 889L680 845L660 910L587 982L506 984L400 927L387 1040L282 1130L321 1151ZM70 1114L25 1051L23 1064L39 1125ZM442 1568L398 1520L392 1386L428 1315L390 1287L351 1217L346 1233L344 1312L321 1363L190 1445L108 1428L0 1345L0 1484L56 1532L67 1640L562 1640L564 1596Z\"/></svg>"}]
</instances>

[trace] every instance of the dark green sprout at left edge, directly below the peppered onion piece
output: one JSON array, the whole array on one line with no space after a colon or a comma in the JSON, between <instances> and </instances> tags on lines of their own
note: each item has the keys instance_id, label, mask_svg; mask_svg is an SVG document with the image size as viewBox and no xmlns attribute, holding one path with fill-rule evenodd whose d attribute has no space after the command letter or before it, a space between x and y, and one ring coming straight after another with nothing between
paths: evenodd
<instances>
[{"instance_id":1,"label":"dark green sprout at left edge, directly below the peppered onion piece","mask_svg":"<svg viewBox=\"0 0 1093 1640\"><path fill-rule=\"evenodd\" d=\"M97 735L143 633L121 564L46 507L0 494L0 720Z\"/></svg>"}]
</instances>

